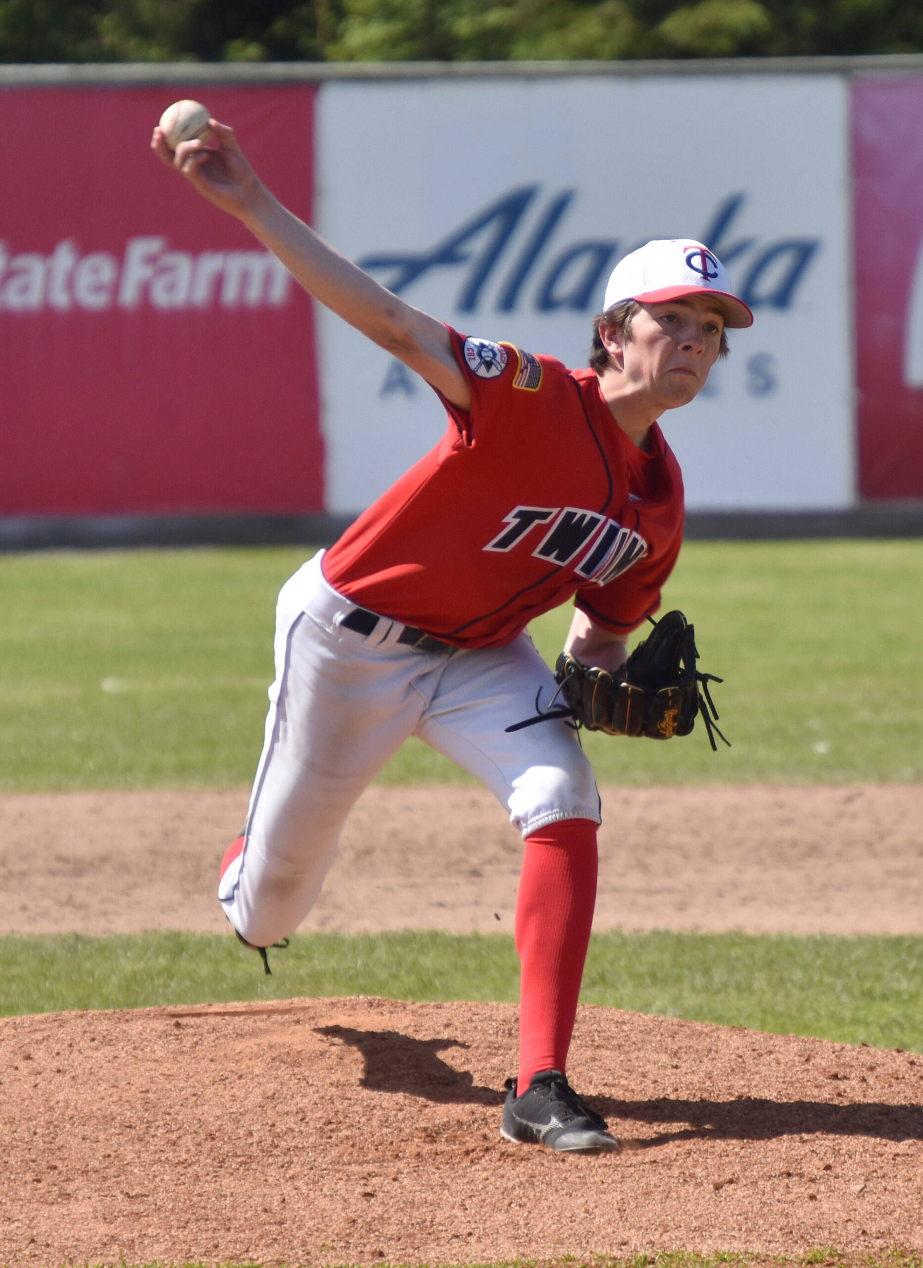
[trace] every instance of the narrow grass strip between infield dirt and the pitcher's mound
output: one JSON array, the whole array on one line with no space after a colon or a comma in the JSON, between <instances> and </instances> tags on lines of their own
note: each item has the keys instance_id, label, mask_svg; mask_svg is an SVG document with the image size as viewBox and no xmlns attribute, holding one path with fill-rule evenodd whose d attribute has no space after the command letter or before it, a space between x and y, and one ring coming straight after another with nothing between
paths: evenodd
<instances>
[{"instance_id":1,"label":"narrow grass strip between infield dirt and the pitcher's mound","mask_svg":"<svg viewBox=\"0 0 923 1268\"><path fill-rule=\"evenodd\" d=\"M406 932L296 935L272 976L228 936L0 938L0 1013L292 995L518 998L513 940ZM603 933L581 1000L666 1017L923 1051L923 938Z\"/></svg>"}]
</instances>

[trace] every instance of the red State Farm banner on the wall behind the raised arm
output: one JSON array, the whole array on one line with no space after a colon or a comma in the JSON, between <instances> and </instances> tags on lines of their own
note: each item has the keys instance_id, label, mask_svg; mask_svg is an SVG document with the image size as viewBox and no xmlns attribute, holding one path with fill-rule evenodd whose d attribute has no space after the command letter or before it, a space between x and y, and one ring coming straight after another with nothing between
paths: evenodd
<instances>
[{"instance_id":1,"label":"red State Farm banner on the wall behind the raised arm","mask_svg":"<svg viewBox=\"0 0 923 1268\"><path fill-rule=\"evenodd\" d=\"M0 515L323 510L310 301L148 147L200 93L0 93ZM306 218L314 96L208 90Z\"/></svg>"}]
</instances>

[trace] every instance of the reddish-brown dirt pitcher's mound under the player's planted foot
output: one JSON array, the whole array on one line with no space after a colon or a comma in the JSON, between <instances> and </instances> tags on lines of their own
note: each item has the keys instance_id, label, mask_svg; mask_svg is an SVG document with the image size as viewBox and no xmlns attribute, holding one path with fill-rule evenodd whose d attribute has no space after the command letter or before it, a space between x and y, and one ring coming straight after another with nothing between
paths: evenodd
<instances>
[{"instance_id":1,"label":"reddish-brown dirt pitcher's mound under the player's planted foot","mask_svg":"<svg viewBox=\"0 0 923 1268\"><path fill-rule=\"evenodd\" d=\"M499 1136L515 1009L291 1000L0 1022L0 1263L923 1249L923 1059L605 1008L632 1146Z\"/></svg>"}]
</instances>

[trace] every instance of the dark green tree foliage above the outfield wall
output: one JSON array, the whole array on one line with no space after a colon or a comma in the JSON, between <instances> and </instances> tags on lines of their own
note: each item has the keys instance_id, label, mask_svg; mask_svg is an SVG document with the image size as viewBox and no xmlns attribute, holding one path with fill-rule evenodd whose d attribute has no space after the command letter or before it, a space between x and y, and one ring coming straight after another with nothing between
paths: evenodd
<instances>
[{"instance_id":1,"label":"dark green tree foliage above the outfield wall","mask_svg":"<svg viewBox=\"0 0 923 1268\"><path fill-rule=\"evenodd\" d=\"M919 0L0 0L5 62L917 51Z\"/></svg>"}]
</instances>

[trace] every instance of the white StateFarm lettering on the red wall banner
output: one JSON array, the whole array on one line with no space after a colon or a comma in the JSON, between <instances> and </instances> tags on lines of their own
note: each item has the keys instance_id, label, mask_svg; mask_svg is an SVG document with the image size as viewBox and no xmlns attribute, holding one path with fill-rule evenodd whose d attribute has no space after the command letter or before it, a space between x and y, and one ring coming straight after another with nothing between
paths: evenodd
<instances>
[{"instance_id":1,"label":"white StateFarm lettering on the red wall banner","mask_svg":"<svg viewBox=\"0 0 923 1268\"><path fill-rule=\"evenodd\" d=\"M46 256L13 255L0 242L0 312L279 308L290 290L291 275L271 251L176 251L166 237L151 236L129 238L119 255L82 255L75 238L65 238Z\"/></svg>"}]
</instances>

